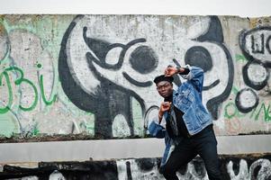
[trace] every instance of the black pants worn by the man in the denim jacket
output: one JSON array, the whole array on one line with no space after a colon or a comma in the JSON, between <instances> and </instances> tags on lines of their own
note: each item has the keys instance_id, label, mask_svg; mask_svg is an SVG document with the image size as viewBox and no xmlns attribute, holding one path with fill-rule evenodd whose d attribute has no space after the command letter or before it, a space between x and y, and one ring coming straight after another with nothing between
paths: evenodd
<instances>
[{"instance_id":1,"label":"black pants worn by the man in the denim jacket","mask_svg":"<svg viewBox=\"0 0 271 180\"><path fill-rule=\"evenodd\" d=\"M200 155L210 180L220 180L221 172L217 155L217 141L212 125L206 127L191 138L185 138L176 146L166 165L162 166L162 173L167 180L178 180L176 171L189 163L194 157Z\"/></svg>"}]
</instances>

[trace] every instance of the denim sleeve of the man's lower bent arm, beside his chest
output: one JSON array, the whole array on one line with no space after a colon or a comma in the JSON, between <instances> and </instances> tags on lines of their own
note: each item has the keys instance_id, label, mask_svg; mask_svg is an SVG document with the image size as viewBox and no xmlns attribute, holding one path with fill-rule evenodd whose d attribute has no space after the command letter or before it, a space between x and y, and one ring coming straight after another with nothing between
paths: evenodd
<instances>
[{"instance_id":1,"label":"denim sleeve of the man's lower bent arm, beside his chest","mask_svg":"<svg viewBox=\"0 0 271 180\"><path fill-rule=\"evenodd\" d=\"M158 117L156 119L158 120ZM159 124L158 121L156 121L156 119L151 121L149 124L149 127L148 127L149 134L155 138L159 138L159 139L165 138L166 129L161 124ZM162 121L165 121L164 119L165 118L163 117Z\"/></svg>"}]
</instances>

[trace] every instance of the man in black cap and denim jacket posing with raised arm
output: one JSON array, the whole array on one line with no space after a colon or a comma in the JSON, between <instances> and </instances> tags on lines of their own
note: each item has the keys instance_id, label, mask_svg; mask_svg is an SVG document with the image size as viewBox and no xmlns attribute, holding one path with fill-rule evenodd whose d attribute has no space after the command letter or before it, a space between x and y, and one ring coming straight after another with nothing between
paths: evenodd
<instances>
[{"instance_id":1,"label":"man in black cap and denim jacket posing with raised arm","mask_svg":"<svg viewBox=\"0 0 271 180\"><path fill-rule=\"evenodd\" d=\"M176 74L187 81L174 90ZM167 180L178 180L176 171L199 155L209 179L221 179L212 118L202 103L203 69L189 65L167 67L165 75L157 76L154 82L158 94L165 98L158 117L149 124L149 133L166 142L160 173Z\"/></svg>"}]
</instances>

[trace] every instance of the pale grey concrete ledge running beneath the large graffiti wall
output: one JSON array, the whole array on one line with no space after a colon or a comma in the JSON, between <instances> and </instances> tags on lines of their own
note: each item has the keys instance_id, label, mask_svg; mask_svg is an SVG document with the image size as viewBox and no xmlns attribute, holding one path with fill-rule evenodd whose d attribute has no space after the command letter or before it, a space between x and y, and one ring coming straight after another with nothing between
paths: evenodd
<instances>
[{"instance_id":1,"label":"pale grey concrete ledge running beneath the large graffiti wall","mask_svg":"<svg viewBox=\"0 0 271 180\"><path fill-rule=\"evenodd\" d=\"M217 137L219 154L271 152L271 135ZM161 157L163 139L74 140L0 144L0 163Z\"/></svg>"}]
</instances>

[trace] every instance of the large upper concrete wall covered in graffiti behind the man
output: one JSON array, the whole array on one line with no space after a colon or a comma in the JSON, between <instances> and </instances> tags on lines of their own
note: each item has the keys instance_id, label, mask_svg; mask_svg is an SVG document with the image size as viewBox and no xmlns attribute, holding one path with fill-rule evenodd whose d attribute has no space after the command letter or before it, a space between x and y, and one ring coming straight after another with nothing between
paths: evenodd
<instances>
[{"instance_id":1,"label":"large upper concrete wall covered in graffiti behind the man","mask_svg":"<svg viewBox=\"0 0 271 180\"><path fill-rule=\"evenodd\" d=\"M1 15L0 134L148 136L165 67L202 67L217 135L270 133L269 17ZM175 76L174 86L185 80Z\"/></svg>"}]
</instances>

